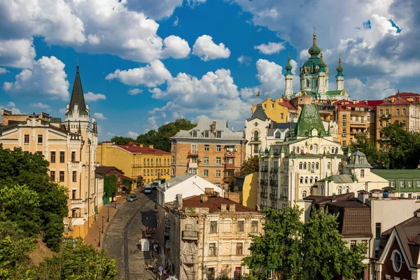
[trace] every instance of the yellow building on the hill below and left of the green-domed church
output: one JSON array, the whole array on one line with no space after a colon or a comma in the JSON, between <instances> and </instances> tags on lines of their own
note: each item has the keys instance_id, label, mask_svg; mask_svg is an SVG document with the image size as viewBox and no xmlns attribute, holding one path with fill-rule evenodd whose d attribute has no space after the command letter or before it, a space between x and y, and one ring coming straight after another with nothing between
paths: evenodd
<instances>
[{"instance_id":1,"label":"yellow building on the hill below and left of the green-domed church","mask_svg":"<svg viewBox=\"0 0 420 280\"><path fill-rule=\"evenodd\" d=\"M260 104L252 106L252 113L260 105L268 118L276 123L296 123L299 117L297 106L293 105L286 97L272 99L268 97Z\"/></svg>"}]
</instances>

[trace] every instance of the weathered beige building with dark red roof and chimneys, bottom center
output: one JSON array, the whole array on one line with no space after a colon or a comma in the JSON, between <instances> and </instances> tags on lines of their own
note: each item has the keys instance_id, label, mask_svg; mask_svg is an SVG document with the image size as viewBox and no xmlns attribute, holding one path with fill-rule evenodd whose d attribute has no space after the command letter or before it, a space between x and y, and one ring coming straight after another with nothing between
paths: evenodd
<instances>
[{"instance_id":1,"label":"weathered beige building with dark red roof and chimneys, bottom center","mask_svg":"<svg viewBox=\"0 0 420 280\"><path fill-rule=\"evenodd\" d=\"M175 202L169 211L169 272L178 279L241 279L251 254L249 234L262 233L264 216L239 202L206 193Z\"/></svg>"}]
</instances>

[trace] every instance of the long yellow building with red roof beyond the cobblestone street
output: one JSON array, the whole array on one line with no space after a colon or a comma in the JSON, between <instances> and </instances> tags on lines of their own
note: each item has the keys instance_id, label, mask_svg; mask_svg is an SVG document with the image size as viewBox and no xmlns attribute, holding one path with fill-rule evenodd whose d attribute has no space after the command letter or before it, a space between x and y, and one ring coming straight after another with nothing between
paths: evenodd
<instances>
[{"instance_id":1,"label":"long yellow building with red roof beyond the cobblestone street","mask_svg":"<svg viewBox=\"0 0 420 280\"><path fill-rule=\"evenodd\" d=\"M160 151L153 146L116 145L106 141L97 147L97 163L99 165L115 166L123 170L125 176L133 180L132 188L137 188L139 179L143 183L153 183L153 180L169 181L171 175L171 153ZM137 182L137 183L136 183Z\"/></svg>"}]
</instances>

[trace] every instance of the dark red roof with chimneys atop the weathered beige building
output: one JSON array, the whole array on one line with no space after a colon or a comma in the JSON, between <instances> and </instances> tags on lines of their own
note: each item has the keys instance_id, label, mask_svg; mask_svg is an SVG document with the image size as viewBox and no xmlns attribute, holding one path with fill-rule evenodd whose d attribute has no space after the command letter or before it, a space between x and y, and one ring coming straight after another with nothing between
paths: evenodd
<instances>
[{"instance_id":1,"label":"dark red roof with chimneys atop the weathered beige building","mask_svg":"<svg viewBox=\"0 0 420 280\"><path fill-rule=\"evenodd\" d=\"M193 197L188 197L183 199L183 208L186 207L209 207L209 213L216 213L221 211L221 204L226 204L227 208L229 209L230 204L235 204L235 212L253 212L253 213L260 213L255 209L251 209L248 207L244 207L244 205L234 202L232 200L228 200L224 197L208 197L206 202L201 202L201 196L195 195Z\"/></svg>"}]
</instances>

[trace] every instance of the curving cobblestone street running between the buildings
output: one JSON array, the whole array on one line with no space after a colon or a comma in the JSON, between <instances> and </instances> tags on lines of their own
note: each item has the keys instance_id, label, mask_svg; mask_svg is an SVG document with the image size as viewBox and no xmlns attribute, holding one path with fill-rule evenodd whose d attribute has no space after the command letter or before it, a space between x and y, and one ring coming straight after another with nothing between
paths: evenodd
<instances>
[{"instance_id":1,"label":"curving cobblestone street running between the buildings","mask_svg":"<svg viewBox=\"0 0 420 280\"><path fill-rule=\"evenodd\" d=\"M156 226L156 192L144 195L136 190L134 194L139 199L120 205L105 232L102 248L111 258L117 259L118 279L155 279L155 274L146 270L147 264L153 262L152 251L141 252L138 244L139 237L144 237L146 226Z\"/></svg>"}]
</instances>

